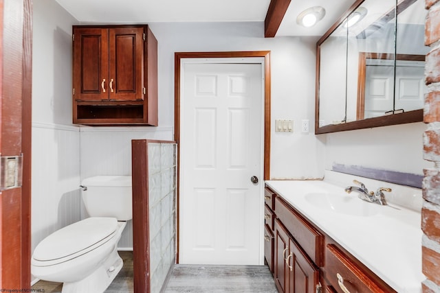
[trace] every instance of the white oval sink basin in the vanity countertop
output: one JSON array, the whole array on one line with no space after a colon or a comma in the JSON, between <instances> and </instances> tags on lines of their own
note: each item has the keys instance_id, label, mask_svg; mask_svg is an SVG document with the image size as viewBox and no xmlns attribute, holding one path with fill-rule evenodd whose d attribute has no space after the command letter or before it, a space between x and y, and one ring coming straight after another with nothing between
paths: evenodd
<instances>
[{"instance_id":1,"label":"white oval sink basin in the vanity countertop","mask_svg":"<svg viewBox=\"0 0 440 293\"><path fill-rule=\"evenodd\" d=\"M345 195L342 192L317 192L305 195L305 199L314 207L340 213L344 215L356 215L366 217L379 213L380 206L365 202L355 195Z\"/></svg>"}]
</instances>

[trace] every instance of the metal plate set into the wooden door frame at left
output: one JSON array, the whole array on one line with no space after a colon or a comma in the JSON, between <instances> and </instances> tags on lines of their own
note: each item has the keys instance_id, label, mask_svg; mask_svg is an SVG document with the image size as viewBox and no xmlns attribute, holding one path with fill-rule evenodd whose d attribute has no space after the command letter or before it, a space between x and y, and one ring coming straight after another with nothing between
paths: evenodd
<instances>
[{"instance_id":1,"label":"metal plate set into the wooden door frame at left","mask_svg":"<svg viewBox=\"0 0 440 293\"><path fill-rule=\"evenodd\" d=\"M0 191L21 187L23 175L23 154L0 156Z\"/></svg>"}]
</instances>

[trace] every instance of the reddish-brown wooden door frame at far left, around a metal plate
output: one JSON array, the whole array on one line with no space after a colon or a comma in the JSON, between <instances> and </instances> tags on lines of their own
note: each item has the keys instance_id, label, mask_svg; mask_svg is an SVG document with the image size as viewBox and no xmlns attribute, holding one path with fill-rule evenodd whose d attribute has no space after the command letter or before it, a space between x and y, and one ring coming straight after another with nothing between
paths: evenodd
<instances>
[{"instance_id":1,"label":"reddish-brown wooden door frame at far left, around a metal plate","mask_svg":"<svg viewBox=\"0 0 440 293\"><path fill-rule=\"evenodd\" d=\"M22 186L0 192L0 288L30 288L32 0L0 2L0 152L23 155Z\"/></svg>"}]
</instances>

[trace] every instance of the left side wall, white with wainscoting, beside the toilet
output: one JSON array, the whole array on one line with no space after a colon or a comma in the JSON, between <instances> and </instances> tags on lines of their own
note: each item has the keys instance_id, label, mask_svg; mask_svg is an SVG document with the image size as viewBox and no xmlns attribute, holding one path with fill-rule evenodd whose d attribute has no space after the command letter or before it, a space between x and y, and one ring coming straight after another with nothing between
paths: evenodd
<instances>
[{"instance_id":1,"label":"left side wall, white with wainscoting, beside the toilet","mask_svg":"<svg viewBox=\"0 0 440 293\"><path fill-rule=\"evenodd\" d=\"M79 128L72 126L72 25L56 1L34 1L32 58L32 251L80 220Z\"/></svg>"}]
</instances>

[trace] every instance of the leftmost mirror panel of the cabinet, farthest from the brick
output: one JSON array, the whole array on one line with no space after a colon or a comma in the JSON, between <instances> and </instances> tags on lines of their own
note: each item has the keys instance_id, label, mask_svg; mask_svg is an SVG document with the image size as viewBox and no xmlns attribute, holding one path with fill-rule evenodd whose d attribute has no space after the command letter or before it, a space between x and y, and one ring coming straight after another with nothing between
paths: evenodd
<instances>
[{"instance_id":1,"label":"leftmost mirror panel of the cabinet, farthest from the brick","mask_svg":"<svg viewBox=\"0 0 440 293\"><path fill-rule=\"evenodd\" d=\"M320 46L320 126L345 121L347 27L340 25Z\"/></svg>"}]
</instances>

